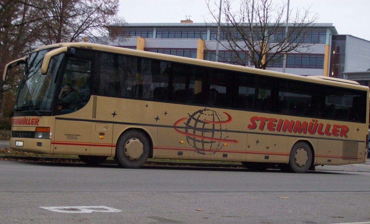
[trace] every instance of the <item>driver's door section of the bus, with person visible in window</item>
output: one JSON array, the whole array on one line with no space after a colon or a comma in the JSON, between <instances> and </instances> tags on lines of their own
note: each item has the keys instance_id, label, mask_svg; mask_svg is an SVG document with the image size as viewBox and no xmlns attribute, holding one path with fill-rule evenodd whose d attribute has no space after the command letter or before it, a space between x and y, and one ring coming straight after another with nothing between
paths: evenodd
<instances>
[{"instance_id":1,"label":"driver's door section of the bus, with person visible in window","mask_svg":"<svg viewBox=\"0 0 370 224\"><path fill-rule=\"evenodd\" d=\"M86 116L91 113L91 109L85 106L91 96L92 59L80 51L76 52L74 56L67 57L59 74L60 79L55 80L60 88L57 89L54 154L90 155L91 131L94 131L94 138L96 130L104 133L104 125L97 129L95 123L87 121ZM95 143L95 139L92 142Z\"/></svg>"}]
</instances>

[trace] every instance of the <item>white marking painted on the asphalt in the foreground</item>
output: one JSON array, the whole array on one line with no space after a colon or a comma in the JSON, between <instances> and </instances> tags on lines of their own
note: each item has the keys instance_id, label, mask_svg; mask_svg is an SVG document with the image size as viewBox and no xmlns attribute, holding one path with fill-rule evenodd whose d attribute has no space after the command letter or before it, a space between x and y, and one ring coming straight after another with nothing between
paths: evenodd
<instances>
[{"instance_id":1,"label":"white marking painted on the asphalt in the foreground","mask_svg":"<svg viewBox=\"0 0 370 224\"><path fill-rule=\"evenodd\" d=\"M96 212L121 212L119 209L107 207L107 206L54 206L54 207L40 207L50 211L56 211L61 213L92 213ZM95 210L92 208L101 208L101 210Z\"/></svg>"}]
</instances>

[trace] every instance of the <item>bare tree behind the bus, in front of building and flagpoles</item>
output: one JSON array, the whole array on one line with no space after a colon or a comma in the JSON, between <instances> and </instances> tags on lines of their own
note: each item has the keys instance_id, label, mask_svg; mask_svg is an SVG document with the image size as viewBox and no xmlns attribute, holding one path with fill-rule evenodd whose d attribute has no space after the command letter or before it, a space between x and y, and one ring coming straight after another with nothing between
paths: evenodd
<instances>
[{"instance_id":1,"label":"bare tree behind the bus, in front of building and flagpoles","mask_svg":"<svg viewBox=\"0 0 370 224\"><path fill-rule=\"evenodd\" d=\"M289 52L307 53L310 43L305 43L307 30L317 20L317 14L309 9L290 10L289 29L285 33L286 4L275 5L272 0L242 0L234 10L232 0L223 0L224 22L208 23L220 27L219 44L231 51L231 60L248 66L248 60L255 68L266 69L269 63L279 63ZM217 8L219 6L213 2ZM218 21L218 10L206 0L212 20ZM229 59L229 58L225 58Z\"/></svg>"}]
</instances>

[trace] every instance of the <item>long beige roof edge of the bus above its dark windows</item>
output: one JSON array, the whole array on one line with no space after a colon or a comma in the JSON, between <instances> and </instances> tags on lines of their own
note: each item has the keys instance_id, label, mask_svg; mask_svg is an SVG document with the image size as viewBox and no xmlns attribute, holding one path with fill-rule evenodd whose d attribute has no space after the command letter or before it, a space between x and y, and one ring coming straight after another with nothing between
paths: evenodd
<instances>
[{"instance_id":1,"label":"long beige roof edge of the bus above its dark windows","mask_svg":"<svg viewBox=\"0 0 370 224\"><path fill-rule=\"evenodd\" d=\"M238 66L238 65L233 65L233 64L225 64L225 63L219 63L215 61L200 60L200 59L195 59L195 58L187 58L187 57L154 53L154 52L142 51L142 50L133 50L133 49L127 49L123 47L107 46L103 44L81 43L81 42L58 43L58 44L51 44L51 45L39 47L35 49L34 51L48 49L48 48L55 48L55 47L77 47L77 48L105 51L105 52L118 53L118 54L128 54L132 56L154 58L158 60L174 61L178 63L187 63L187 64L193 64L193 65L198 65L198 66L220 68L220 69L225 69L225 70L247 72L247 73L253 73L253 74L273 76L273 77L278 77L278 78L288 78L288 79L299 80L299 81L304 81L304 82L319 83L319 84L326 84L326 85L331 85L331 86L340 86L344 88L355 88L355 89L361 89L364 91L369 91L369 87L360 86L359 83L357 83L356 81L351 81L351 80L344 80L344 79L332 78L332 77L326 77L326 76L300 76L296 74L269 71L269 70L251 68L251 67Z\"/></svg>"}]
</instances>

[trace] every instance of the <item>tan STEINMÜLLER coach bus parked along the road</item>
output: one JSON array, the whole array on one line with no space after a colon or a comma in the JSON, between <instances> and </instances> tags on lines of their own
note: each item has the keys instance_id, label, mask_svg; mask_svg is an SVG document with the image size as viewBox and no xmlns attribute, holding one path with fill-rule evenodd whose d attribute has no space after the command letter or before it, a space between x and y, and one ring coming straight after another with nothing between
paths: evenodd
<instances>
[{"instance_id":1,"label":"tan STEINM\u00dcLLER coach bus parked along the road","mask_svg":"<svg viewBox=\"0 0 370 224\"><path fill-rule=\"evenodd\" d=\"M11 117L14 150L107 157L238 161L305 173L365 163L369 88L92 43L40 47L24 64Z\"/></svg>"}]
</instances>

